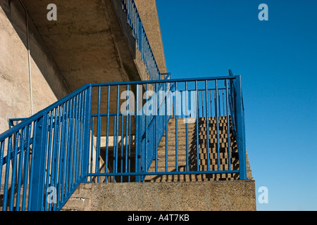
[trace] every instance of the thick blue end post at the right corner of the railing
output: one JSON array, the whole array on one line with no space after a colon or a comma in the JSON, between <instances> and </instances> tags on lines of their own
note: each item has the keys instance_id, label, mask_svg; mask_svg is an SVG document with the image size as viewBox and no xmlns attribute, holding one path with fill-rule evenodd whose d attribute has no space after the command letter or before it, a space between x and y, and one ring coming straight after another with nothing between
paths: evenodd
<instances>
[{"instance_id":1,"label":"thick blue end post at the right corner of the railing","mask_svg":"<svg viewBox=\"0 0 317 225\"><path fill-rule=\"evenodd\" d=\"M244 143L244 109L242 105L242 88L241 88L241 76L235 76L236 82L236 112L237 112L237 149L239 153L239 169L240 179L247 179L247 164L246 164L246 150Z\"/></svg>"}]
</instances>

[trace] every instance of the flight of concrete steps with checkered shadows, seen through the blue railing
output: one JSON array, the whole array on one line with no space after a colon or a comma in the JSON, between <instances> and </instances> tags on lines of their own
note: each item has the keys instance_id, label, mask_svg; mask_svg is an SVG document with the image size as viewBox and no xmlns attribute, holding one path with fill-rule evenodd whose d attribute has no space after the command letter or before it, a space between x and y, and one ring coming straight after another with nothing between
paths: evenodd
<instances>
[{"instance_id":1,"label":"flight of concrete steps with checkered shadows, seen through the blue railing","mask_svg":"<svg viewBox=\"0 0 317 225\"><path fill-rule=\"evenodd\" d=\"M230 125L230 159L231 168L228 167L228 132L227 117L218 117L219 120L219 159L217 153L217 127L216 117L209 117L209 167L211 170L239 169L239 155L237 153L237 141L232 136ZM231 122L230 122L231 124ZM168 123L168 172L176 171L175 151L175 119ZM197 133L199 143L197 145ZM199 118L199 129L196 130L196 120L188 123L188 159L186 158L186 123L185 119L178 119L178 171L186 171L187 161L189 171L197 171L197 146L199 148L199 170L207 169L207 136L206 118ZM155 160L152 162L149 172L155 172ZM158 150L158 172L166 170L166 136L163 136ZM247 158L247 178L252 179L249 159ZM186 175L159 175L146 176L145 182L175 182L175 181L225 181L239 179L239 174L186 174Z\"/></svg>"}]
</instances>

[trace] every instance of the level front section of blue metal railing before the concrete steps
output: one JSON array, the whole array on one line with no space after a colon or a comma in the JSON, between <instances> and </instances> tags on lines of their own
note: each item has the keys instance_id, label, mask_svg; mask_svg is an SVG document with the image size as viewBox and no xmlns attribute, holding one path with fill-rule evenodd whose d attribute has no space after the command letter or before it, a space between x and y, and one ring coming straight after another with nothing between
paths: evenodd
<instances>
[{"instance_id":1,"label":"level front section of blue metal railing before the concrete steps","mask_svg":"<svg viewBox=\"0 0 317 225\"><path fill-rule=\"evenodd\" d=\"M229 85L232 82L234 89L232 90ZM111 102L108 96L108 101L104 103L107 105L107 112L101 113L101 109L98 109L97 114L92 115L92 124L98 124L97 131L92 131L92 143L90 146L90 170L87 176L90 177L89 181L92 181L92 177L102 182L124 182L124 181L144 181L144 178L149 175L173 175L173 174L239 174L240 179L247 179L246 165L245 165L245 146L244 146L244 122L240 110L236 105L240 105L242 102L242 96L237 92L235 97L232 98L235 101L235 111L230 110L231 94L234 91L239 91L240 76L228 76L228 77L215 77L215 78L201 78L201 79L166 79L157 81L144 81L144 82L123 82L112 84L92 84L93 88L98 89L98 95L102 95L101 89L108 90L108 94L117 93L116 101ZM152 87L150 89L150 86ZM124 100L128 102L127 111L120 111L121 96L119 90L132 90L130 94L125 95ZM143 92L143 91L144 92ZM151 93L154 91L154 93ZM162 93L160 93L162 91ZM187 92L185 92L187 91ZM184 94L185 93L185 94ZM130 98L133 96L133 98ZM104 97L106 99L106 96ZM142 100L144 101L142 104ZM100 105L100 98L98 100ZM111 105L112 104L112 105ZM132 107L132 105L136 105ZM113 109L113 111L109 109ZM133 110L130 110L133 108ZM184 109L185 108L185 109ZM187 112L187 113L182 113ZM241 111L242 112L242 111ZM112 120L111 120L112 117ZM227 121L227 141L228 147L228 167L227 169L220 169L220 160L218 160L218 169L212 169L211 158L209 151L206 152L206 168L199 169L199 141L200 137L196 134L196 146L195 149L197 155L197 162L195 167L192 165L189 169L189 162L186 162L185 171L180 171L178 165L178 155L180 154L179 148L179 122L175 120L175 130L170 131L168 124L170 117L175 119L185 119L186 124L189 119L195 119L194 123L199 130L201 118L206 120L206 148L211 149L209 146L209 124L211 117L216 118L216 152L219 158L220 155L220 117L226 117ZM110 121L110 122L108 122ZM232 121L237 121L237 136L241 136L242 140L237 140L239 151L239 169L232 169L231 165L231 146L230 146L230 125ZM110 126L110 127L109 127ZM96 126L95 126L96 127ZM104 142L101 143L102 127L106 128L104 131ZM92 128L94 129L94 127ZM109 132L109 129L113 130L113 133ZM134 130L134 131L131 131ZM170 140L169 135L173 133L175 139ZM186 154L188 160L189 152L189 139L188 139L188 127L185 132L186 139ZM200 134L201 135L201 134ZM165 136L165 156L166 166L163 169L159 169L158 158L158 146L162 143L162 138ZM173 142L173 146L170 146L170 141ZM103 146L103 147L102 147ZM104 148L104 150L101 150ZM96 156L94 153L96 152ZM173 167L168 165L170 153L176 155L173 160L175 164ZM193 154L193 153L192 153ZM191 162L192 163L192 162ZM149 171L150 167L154 167L154 170ZM94 169L95 168L95 169ZM101 172L100 168L104 168Z\"/></svg>"}]
</instances>

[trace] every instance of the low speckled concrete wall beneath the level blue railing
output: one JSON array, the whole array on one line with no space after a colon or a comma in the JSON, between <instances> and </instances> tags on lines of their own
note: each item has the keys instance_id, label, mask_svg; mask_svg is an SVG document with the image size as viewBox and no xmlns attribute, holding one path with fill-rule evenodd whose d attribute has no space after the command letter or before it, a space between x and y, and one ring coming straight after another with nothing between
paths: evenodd
<instances>
[{"instance_id":1,"label":"low speckled concrete wall beneath the level blue railing","mask_svg":"<svg viewBox=\"0 0 317 225\"><path fill-rule=\"evenodd\" d=\"M254 181L81 184L63 210L254 211Z\"/></svg>"}]
</instances>

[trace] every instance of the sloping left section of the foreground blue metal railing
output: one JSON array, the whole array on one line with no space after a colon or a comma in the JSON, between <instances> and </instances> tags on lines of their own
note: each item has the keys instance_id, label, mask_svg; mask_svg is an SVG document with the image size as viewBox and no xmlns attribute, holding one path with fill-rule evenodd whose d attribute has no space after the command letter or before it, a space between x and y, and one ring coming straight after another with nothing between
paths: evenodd
<instances>
[{"instance_id":1,"label":"sloping left section of the foreground blue metal railing","mask_svg":"<svg viewBox=\"0 0 317 225\"><path fill-rule=\"evenodd\" d=\"M2 210L60 210L85 179L90 90L85 85L1 134Z\"/></svg>"}]
</instances>

